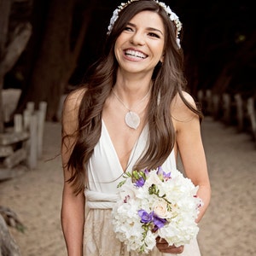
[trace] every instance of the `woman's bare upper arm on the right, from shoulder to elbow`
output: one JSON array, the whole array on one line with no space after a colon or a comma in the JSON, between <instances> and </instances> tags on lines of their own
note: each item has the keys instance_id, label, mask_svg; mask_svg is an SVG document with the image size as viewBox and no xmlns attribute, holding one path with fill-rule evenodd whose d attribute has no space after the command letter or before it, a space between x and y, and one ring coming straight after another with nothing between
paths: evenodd
<instances>
[{"instance_id":1,"label":"woman's bare upper arm on the right, from shoulder to elbow","mask_svg":"<svg viewBox=\"0 0 256 256\"><path fill-rule=\"evenodd\" d=\"M184 96L195 108L192 96L187 93L184 93ZM172 119L177 135L177 150L186 176L195 185L208 185L207 160L201 139L201 124L198 115L177 96L172 105Z\"/></svg>"}]
</instances>

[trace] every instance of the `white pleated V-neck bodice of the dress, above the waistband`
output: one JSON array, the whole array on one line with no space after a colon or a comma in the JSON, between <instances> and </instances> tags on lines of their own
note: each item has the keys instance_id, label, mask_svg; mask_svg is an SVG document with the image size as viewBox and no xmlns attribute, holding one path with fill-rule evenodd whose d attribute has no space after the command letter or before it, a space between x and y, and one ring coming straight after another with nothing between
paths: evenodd
<instances>
[{"instance_id":1,"label":"white pleated V-neck bodice of the dress, above the waistband","mask_svg":"<svg viewBox=\"0 0 256 256\"><path fill-rule=\"evenodd\" d=\"M138 158L147 147L148 125L146 125L131 150L126 172L131 172ZM162 165L166 170L176 169L175 154L172 153ZM116 194L118 183L123 180L123 168L119 162L107 126L102 120L102 135L94 148L94 152L87 166L87 189L101 193Z\"/></svg>"}]
</instances>

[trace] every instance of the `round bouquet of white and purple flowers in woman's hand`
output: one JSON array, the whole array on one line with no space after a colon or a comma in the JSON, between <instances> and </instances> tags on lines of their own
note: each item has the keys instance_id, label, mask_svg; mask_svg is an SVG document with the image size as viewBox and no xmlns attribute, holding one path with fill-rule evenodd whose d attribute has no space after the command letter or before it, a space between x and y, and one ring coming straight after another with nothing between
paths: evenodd
<instances>
[{"instance_id":1,"label":"round bouquet of white and purple flowers in woman's hand","mask_svg":"<svg viewBox=\"0 0 256 256\"><path fill-rule=\"evenodd\" d=\"M150 172L127 172L119 183L112 223L128 251L149 253L157 236L179 247L197 235L195 219L202 205L196 195L198 187L175 171L164 172L160 166Z\"/></svg>"}]
</instances>

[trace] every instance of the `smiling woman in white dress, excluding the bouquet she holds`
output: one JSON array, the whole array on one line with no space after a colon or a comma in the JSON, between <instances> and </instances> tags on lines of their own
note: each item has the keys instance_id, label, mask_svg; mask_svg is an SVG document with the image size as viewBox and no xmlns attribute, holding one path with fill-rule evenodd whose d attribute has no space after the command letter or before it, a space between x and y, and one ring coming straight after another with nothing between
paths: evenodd
<instances>
[{"instance_id":1,"label":"smiling woman in white dress, excluding the bouquet she holds","mask_svg":"<svg viewBox=\"0 0 256 256\"><path fill-rule=\"evenodd\" d=\"M69 256L136 255L114 233L111 208L124 172L176 167L177 154L204 205L210 201L201 113L185 92L181 23L164 3L135 0L113 12L105 53L62 115L61 224ZM157 240L150 255L200 255ZM171 255L172 255L171 254ZM169 255L169 254L167 254Z\"/></svg>"}]
</instances>

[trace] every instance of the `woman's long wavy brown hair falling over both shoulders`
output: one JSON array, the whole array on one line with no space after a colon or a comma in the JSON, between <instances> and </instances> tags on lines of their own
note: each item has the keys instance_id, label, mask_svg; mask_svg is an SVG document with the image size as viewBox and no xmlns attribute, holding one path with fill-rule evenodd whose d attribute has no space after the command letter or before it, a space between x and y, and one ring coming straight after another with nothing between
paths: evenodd
<instances>
[{"instance_id":1,"label":"woman's long wavy brown hair falling over both shoulders","mask_svg":"<svg viewBox=\"0 0 256 256\"><path fill-rule=\"evenodd\" d=\"M157 65L153 74L153 87L148 103L148 148L142 158L137 161L138 170L155 168L163 164L175 143L175 131L170 115L171 102L177 94L193 112L201 113L192 108L183 97L186 79L183 76L183 51L176 41L177 29L166 15L166 11L152 0L140 0L128 4L119 13L112 31L109 33L104 53L99 61L90 67L86 91L79 108L79 131L67 167L74 170L67 182L72 182L74 193L84 189L86 164L101 137L102 109L116 81L118 63L114 55L114 44L119 34L134 15L149 10L160 15L165 26L165 57L161 65Z\"/></svg>"}]
</instances>

